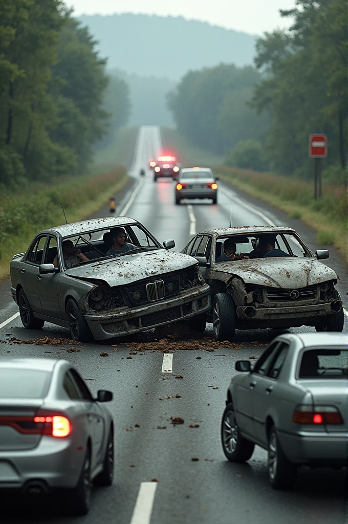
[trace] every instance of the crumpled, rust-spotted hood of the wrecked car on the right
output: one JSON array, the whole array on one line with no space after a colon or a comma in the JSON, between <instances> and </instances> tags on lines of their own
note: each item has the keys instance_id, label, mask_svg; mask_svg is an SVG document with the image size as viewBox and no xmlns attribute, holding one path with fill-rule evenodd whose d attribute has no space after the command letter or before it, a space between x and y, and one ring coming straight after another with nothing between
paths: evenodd
<instances>
[{"instance_id":1,"label":"crumpled, rust-spotted hood of the wrecked car on the right","mask_svg":"<svg viewBox=\"0 0 348 524\"><path fill-rule=\"evenodd\" d=\"M221 273L224 274L223 278ZM333 269L315 258L275 257L239 260L216 264L212 278L229 281L240 277L245 283L284 289L305 288L320 282L337 279Z\"/></svg>"}]
</instances>

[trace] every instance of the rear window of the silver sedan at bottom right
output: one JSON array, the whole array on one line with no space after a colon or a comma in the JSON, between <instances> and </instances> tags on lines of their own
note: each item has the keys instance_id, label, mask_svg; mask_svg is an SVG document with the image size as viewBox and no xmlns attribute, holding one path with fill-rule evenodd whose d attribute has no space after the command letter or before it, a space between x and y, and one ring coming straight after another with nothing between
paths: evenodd
<instances>
[{"instance_id":1,"label":"rear window of the silver sedan at bottom right","mask_svg":"<svg viewBox=\"0 0 348 524\"><path fill-rule=\"evenodd\" d=\"M302 355L300 378L342 378L348 376L348 350L309 350Z\"/></svg>"}]
</instances>

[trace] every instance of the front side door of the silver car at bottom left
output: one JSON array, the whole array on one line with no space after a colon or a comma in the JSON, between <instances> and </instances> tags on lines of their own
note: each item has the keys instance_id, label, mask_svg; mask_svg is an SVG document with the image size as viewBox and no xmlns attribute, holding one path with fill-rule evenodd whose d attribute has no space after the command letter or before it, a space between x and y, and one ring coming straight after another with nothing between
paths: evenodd
<instances>
[{"instance_id":1,"label":"front side door of the silver car at bottom left","mask_svg":"<svg viewBox=\"0 0 348 524\"><path fill-rule=\"evenodd\" d=\"M103 442L105 438L105 416L103 409L95 400L84 380L80 377L75 369L71 369L70 373L77 384L81 398L88 404L89 416L93 420L93 455L96 459L96 464L99 464L102 459ZM95 464L95 465L96 465Z\"/></svg>"}]
</instances>

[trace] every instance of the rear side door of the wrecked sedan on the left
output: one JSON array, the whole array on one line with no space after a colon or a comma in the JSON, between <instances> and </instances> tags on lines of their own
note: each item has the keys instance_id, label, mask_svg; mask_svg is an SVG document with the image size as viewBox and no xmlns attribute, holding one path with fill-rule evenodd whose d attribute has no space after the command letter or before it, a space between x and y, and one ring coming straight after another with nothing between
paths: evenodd
<instances>
[{"instance_id":1,"label":"rear side door of the wrecked sedan on the left","mask_svg":"<svg viewBox=\"0 0 348 524\"><path fill-rule=\"evenodd\" d=\"M29 300L30 307L35 313L43 313L39 292L38 277L39 265L42 263L47 235L40 235L32 242L28 254L20 268L20 283Z\"/></svg>"}]
</instances>

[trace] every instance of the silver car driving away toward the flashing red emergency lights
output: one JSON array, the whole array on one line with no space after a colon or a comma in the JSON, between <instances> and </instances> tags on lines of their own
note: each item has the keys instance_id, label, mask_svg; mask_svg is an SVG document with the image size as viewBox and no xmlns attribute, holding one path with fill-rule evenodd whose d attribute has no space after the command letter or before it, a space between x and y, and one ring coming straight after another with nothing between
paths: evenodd
<instances>
[{"instance_id":1,"label":"silver car driving away toward the flashing red emergency lights","mask_svg":"<svg viewBox=\"0 0 348 524\"><path fill-rule=\"evenodd\" d=\"M213 172L208 167L191 167L181 169L175 187L175 203L180 204L181 199L212 199L217 203L217 183Z\"/></svg>"}]
</instances>

